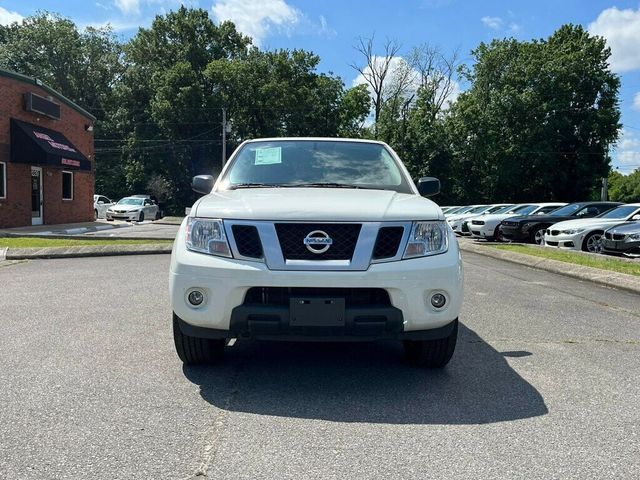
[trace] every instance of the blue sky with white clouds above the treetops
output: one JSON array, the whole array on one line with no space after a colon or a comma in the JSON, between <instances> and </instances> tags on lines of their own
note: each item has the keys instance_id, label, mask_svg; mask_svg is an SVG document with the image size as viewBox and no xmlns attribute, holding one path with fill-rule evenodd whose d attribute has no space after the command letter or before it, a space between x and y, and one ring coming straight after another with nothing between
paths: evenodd
<instances>
[{"instance_id":1,"label":"blue sky with white clouds above the treetops","mask_svg":"<svg viewBox=\"0 0 640 480\"><path fill-rule=\"evenodd\" d=\"M457 49L469 62L469 52L481 41L547 37L564 23L582 24L607 39L612 69L622 78L624 128L614 166L622 173L640 167L638 0L0 0L0 23L50 10L79 25L108 22L128 38L180 4L204 8L215 21L233 20L262 48L312 50L322 58L321 70L340 75L348 86L357 77L350 64L359 59L353 49L359 36L375 33L379 44L394 39L404 53L422 43L445 53Z\"/></svg>"}]
</instances>

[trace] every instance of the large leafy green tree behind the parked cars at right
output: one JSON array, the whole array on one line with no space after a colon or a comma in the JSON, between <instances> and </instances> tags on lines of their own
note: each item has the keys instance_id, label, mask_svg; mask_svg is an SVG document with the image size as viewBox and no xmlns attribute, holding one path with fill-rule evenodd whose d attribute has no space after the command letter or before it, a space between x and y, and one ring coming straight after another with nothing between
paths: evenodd
<instances>
[{"instance_id":1,"label":"large leafy green tree behind the parked cars at right","mask_svg":"<svg viewBox=\"0 0 640 480\"><path fill-rule=\"evenodd\" d=\"M480 44L449 123L460 199L588 198L620 128L610 53L573 25L546 40Z\"/></svg>"}]
</instances>

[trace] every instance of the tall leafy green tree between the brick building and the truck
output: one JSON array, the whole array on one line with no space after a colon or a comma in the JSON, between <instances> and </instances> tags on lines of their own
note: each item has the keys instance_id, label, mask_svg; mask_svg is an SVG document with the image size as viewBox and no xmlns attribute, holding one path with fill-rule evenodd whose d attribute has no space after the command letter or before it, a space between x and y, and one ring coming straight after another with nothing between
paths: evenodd
<instances>
[{"instance_id":1,"label":"tall leafy green tree between the brick building and the truck","mask_svg":"<svg viewBox=\"0 0 640 480\"><path fill-rule=\"evenodd\" d=\"M149 179L171 179L167 208L194 200L191 177L220 165L221 108L205 75L210 62L246 55L250 40L229 22L214 24L206 10L180 9L155 17L124 47L126 71L114 96L126 189L143 191Z\"/></svg>"}]
</instances>

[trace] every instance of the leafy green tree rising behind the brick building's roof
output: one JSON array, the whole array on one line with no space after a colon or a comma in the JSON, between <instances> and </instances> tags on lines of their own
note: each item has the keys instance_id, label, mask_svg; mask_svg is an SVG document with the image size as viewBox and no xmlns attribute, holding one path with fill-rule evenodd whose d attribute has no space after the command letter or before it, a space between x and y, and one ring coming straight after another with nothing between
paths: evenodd
<instances>
[{"instance_id":1,"label":"leafy green tree rising behind the brick building's roof","mask_svg":"<svg viewBox=\"0 0 640 480\"><path fill-rule=\"evenodd\" d=\"M79 31L49 12L0 26L0 67L37 77L96 117L96 191L109 196L124 193L120 155L103 153L100 142L116 135L110 114L124 71L121 57L122 45L108 27Z\"/></svg>"}]
</instances>

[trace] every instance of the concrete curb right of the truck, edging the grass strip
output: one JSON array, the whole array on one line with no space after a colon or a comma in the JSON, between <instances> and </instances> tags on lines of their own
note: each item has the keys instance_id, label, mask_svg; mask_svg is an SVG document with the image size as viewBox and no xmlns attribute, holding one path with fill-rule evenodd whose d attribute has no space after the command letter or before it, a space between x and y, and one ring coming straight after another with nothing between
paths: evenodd
<instances>
[{"instance_id":1,"label":"concrete curb right of the truck, edging the grass strip","mask_svg":"<svg viewBox=\"0 0 640 480\"><path fill-rule=\"evenodd\" d=\"M585 267L582 265L574 265L572 263L561 262L559 260L551 260L547 258L534 257L524 253L509 252L506 250L498 250L492 247L469 244L467 242L458 242L460 250L486 257L504 260L506 262L517 263L538 270L558 273L567 277L577 278L579 280L589 280L607 287L618 288L628 292L640 294L640 278L626 273L612 272L609 270L601 270L599 268Z\"/></svg>"}]
</instances>

